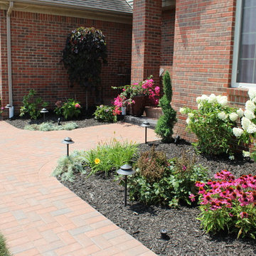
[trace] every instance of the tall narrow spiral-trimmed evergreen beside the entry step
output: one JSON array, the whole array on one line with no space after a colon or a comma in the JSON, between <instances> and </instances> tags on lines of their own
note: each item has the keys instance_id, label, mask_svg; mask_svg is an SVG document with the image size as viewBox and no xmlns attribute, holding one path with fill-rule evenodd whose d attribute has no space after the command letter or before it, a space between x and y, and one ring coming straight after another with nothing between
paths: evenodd
<instances>
[{"instance_id":1,"label":"tall narrow spiral-trimmed evergreen beside the entry step","mask_svg":"<svg viewBox=\"0 0 256 256\"><path fill-rule=\"evenodd\" d=\"M172 87L168 71L164 74L163 85L164 96L159 100L159 106L164 114L159 118L155 132L161 137L163 142L169 143L172 140L174 124L177 122L177 119L176 111L171 107Z\"/></svg>"}]
</instances>

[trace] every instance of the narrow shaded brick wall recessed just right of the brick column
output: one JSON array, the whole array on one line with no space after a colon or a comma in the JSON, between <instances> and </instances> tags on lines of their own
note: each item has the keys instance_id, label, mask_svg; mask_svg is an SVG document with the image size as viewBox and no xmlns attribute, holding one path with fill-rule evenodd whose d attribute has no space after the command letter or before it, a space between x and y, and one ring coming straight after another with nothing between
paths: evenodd
<instances>
[{"instance_id":1,"label":"narrow shaded brick wall recessed just right of the brick column","mask_svg":"<svg viewBox=\"0 0 256 256\"><path fill-rule=\"evenodd\" d=\"M161 63L160 67L172 72L174 60L175 9L162 12L161 18Z\"/></svg>"}]
</instances>

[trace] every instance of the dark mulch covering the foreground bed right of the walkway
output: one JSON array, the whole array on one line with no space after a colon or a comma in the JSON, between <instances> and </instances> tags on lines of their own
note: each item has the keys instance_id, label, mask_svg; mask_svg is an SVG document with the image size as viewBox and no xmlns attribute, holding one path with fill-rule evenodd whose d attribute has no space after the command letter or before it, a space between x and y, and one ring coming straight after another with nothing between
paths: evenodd
<instances>
[{"instance_id":1,"label":"dark mulch covering the foreground bed right of the walkway","mask_svg":"<svg viewBox=\"0 0 256 256\"><path fill-rule=\"evenodd\" d=\"M142 144L139 148L145 151L150 146ZM183 150L188 156L194 154L193 147L186 142L178 145L156 142L156 150L166 151L169 158L181 155ZM225 156L197 156L197 160L208 166L209 177L221 169L228 169L235 176L256 174L256 164L246 159L230 161ZM109 178L102 175L86 178L78 174L75 182L65 182L64 185L157 255L256 255L255 240L236 240L225 234L203 232L196 220L198 208L181 206L172 209L129 201L124 208L124 190L114 183L113 174ZM162 228L168 230L169 240L161 240L159 231Z\"/></svg>"}]
</instances>

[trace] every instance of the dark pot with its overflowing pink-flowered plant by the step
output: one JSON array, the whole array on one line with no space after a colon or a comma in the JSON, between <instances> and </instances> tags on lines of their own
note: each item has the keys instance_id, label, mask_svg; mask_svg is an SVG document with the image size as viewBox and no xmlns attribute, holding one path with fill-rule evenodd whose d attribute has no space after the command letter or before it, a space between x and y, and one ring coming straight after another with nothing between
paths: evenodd
<instances>
[{"instance_id":1,"label":"dark pot with its overflowing pink-flowered plant by the step","mask_svg":"<svg viewBox=\"0 0 256 256\"><path fill-rule=\"evenodd\" d=\"M148 78L142 82L135 82L132 85L112 87L122 89L122 92L114 98L114 106L117 114L121 113L122 107L132 106L132 115L140 117L144 112L146 97L149 97L153 105L159 103L160 88L154 86L154 80Z\"/></svg>"}]
</instances>

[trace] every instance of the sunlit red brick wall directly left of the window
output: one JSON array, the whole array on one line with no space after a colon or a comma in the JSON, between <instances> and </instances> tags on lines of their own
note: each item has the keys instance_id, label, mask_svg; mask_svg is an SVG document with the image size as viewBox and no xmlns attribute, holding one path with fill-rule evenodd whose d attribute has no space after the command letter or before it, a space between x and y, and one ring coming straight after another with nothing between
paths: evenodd
<instances>
[{"instance_id":1,"label":"sunlit red brick wall directly left of the window","mask_svg":"<svg viewBox=\"0 0 256 256\"><path fill-rule=\"evenodd\" d=\"M234 0L176 0L173 105L196 107L202 94L227 95L231 82ZM186 117L178 114L176 133L185 132Z\"/></svg>"}]
</instances>

